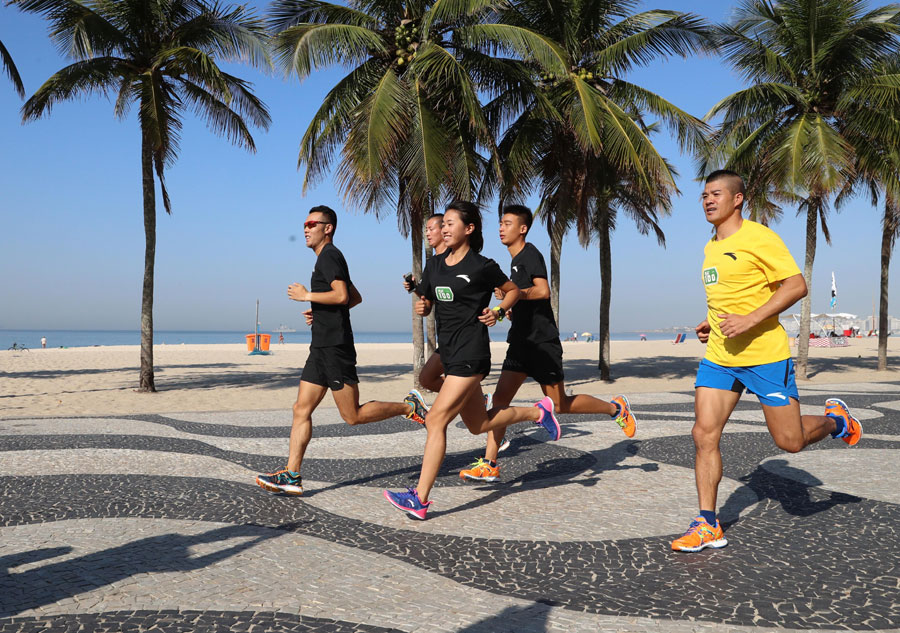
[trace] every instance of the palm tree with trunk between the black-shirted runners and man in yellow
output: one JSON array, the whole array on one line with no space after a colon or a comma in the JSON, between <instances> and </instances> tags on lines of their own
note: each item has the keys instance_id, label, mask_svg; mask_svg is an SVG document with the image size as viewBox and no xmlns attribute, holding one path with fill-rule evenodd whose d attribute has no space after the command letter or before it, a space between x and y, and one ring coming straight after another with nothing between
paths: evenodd
<instances>
[{"instance_id":1,"label":"palm tree with trunk between the black-shirted runners and man in yellow","mask_svg":"<svg viewBox=\"0 0 900 633\"><path fill-rule=\"evenodd\" d=\"M487 107L492 121L513 119L499 143L504 180L495 187L501 199L521 199L533 190L539 195L539 211L551 236L556 305L562 237L569 226L578 227L583 243L599 229L605 234L600 236L601 253L608 254L603 245L608 245L614 223L602 209L616 207L611 187L628 182L629 195L644 197L646 204L622 208L645 228L655 224L655 214L668 208L676 191L673 172L650 141L643 113L664 122L688 151L705 142L701 121L623 75L658 57L704 49L710 32L694 16L635 13L637 5L633 0L521 0L501 18L554 42L565 69L558 73L531 64L533 82L504 92ZM648 215L648 210L653 211ZM592 224L595 219L600 224ZM607 263L601 265L606 293L612 274L611 261ZM608 294L605 301L601 298L600 324L599 367L601 377L609 379Z\"/></svg>"}]
</instances>

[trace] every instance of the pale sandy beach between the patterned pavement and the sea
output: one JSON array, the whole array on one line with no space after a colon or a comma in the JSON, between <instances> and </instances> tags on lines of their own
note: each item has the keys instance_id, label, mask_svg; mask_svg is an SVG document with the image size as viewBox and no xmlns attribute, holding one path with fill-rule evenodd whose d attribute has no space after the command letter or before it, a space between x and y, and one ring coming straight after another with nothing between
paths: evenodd
<instances>
[{"instance_id":1,"label":"pale sandy beach between the patterned pavement and the sea","mask_svg":"<svg viewBox=\"0 0 900 633\"><path fill-rule=\"evenodd\" d=\"M613 382L598 379L597 345L563 343L566 383L597 396L684 391L693 386L704 346L696 340L613 341ZM900 349L890 340L889 354ZM411 344L358 344L360 399L399 400L412 386ZM492 346L496 383L505 344ZM269 356L248 356L243 345L160 345L155 349L155 394L136 393L137 346L0 352L0 417L289 409L297 393L307 346L275 345ZM811 348L810 380L847 384L900 379L900 370L876 371L877 341L852 339L849 347ZM528 381L519 392L534 399ZM429 394L426 397L430 400ZM334 406L326 398L322 406Z\"/></svg>"}]
</instances>

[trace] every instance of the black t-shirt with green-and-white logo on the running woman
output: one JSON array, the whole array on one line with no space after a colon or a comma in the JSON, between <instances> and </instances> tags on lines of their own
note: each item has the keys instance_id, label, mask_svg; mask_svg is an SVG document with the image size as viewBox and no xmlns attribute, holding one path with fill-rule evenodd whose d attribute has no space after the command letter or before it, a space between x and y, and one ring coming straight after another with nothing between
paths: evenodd
<instances>
[{"instance_id":1,"label":"black t-shirt with green-and-white logo on the running woman","mask_svg":"<svg viewBox=\"0 0 900 633\"><path fill-rule=\"evenodd\" d=\"M491 358L491 339L487 326L478 320L488 307L494 288L509 279L493 259L473 250L462 261L448 266L450 251L428 260L417 290L434 302L441 362L484 360Z\"/></svg>"}]
</instances>

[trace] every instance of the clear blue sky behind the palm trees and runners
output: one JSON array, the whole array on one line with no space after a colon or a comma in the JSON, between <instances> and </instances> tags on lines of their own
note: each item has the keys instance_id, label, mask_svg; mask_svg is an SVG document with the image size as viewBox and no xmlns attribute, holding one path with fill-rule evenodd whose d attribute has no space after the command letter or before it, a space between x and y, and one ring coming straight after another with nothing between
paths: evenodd
<instances>
[{"instance_id":1,"label":"clear blue sky behind the palm trees and runners","mask_svg":"<svg viewBox=\"0 0 900 633\"><path fill-rule=\"evenodd\" d=\"M721 21L732 5L669 0L645 6ZM45 22L2 5L0 40L29 95L68 63L50 44ZM305 327L302 306L287 298L286 289L309 280L314 255L303 245L301 224L311 206L328 204L339 211L336 243L364 298L354 309L354 328L408 330L409 299L399 280L411 268L411 253L395 219L379 222L347 209L331 180L305 196L301 191L299 141L341 70L317 73L302 84L249 67L234 72L254 83L273 125L255 132L258 151L249 154L202 121L185 120L178 162L167 173L174 213L166 216L160 206L158 219L155 327L251 328L257 298L263 328ZM712 57L660 61L629 78L698 116L740 88L730 69ZM95 96L59 104L49 117L22 125L21 105L0 76L0 329L137 329L144 237L135 117L117 120L109 99ZM657 144L681 173L682 195L662 222L665 249L627 220L620 222L613 237L613 331L694 325L704 317L699 271L710 233L701 187L690 159L664 133ZM485 217L491 219L484 252L508 269L493 215ZM827 311L834 271L837 310L871 313L878 296L879 224L880 211L864 200L831 214L832 245L819 236L814 312ZM786 209L774 228L802 265L804 219ZM540 227L531 241L549 259ZM597 249L583 249L573 236L562 257L562 331L596 331L599 291ZM891 295L900 297L896 274Z\"/></svg>"}]
</instances>

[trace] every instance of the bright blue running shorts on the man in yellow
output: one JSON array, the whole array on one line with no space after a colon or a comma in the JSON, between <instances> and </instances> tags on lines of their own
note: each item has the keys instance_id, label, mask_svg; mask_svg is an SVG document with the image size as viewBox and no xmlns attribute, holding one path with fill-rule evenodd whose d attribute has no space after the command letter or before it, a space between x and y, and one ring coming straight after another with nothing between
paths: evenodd
<instances>
[{"instance_id":1,"label":"bright blue running shorts on the man in yellow","mask_svg":"<svg viewBox=\"0 0 900 633\"><path fill-rule=\"evenodd\" d=\"M761 404L770 407L785 407L790 399L800 401L797 381L794 379L794 361L788 358L776 363L752 365L750 367L725 367L711 363L705 358L697 368L694 387L710 387L752 393Z\"/></svg>"}]
</instances>

